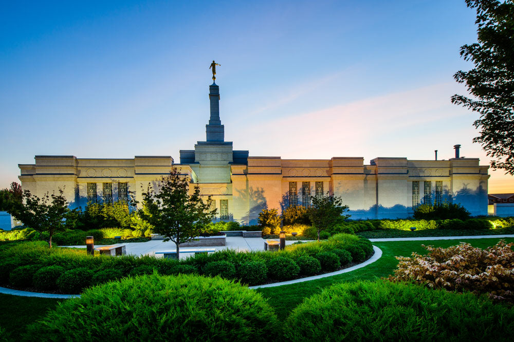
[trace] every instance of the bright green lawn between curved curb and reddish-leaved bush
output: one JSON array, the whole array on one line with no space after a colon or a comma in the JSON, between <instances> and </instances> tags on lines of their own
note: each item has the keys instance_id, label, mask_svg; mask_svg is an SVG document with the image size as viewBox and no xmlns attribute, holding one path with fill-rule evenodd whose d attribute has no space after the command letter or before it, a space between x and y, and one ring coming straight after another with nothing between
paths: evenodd
<instances>
[{"instance_id":1,"label":"bright green lawn between curved curb and reddish-leaved bush","mask_svg":"<svg viewBox=\"0 0 514 342\"><path fill-rule=\"evenodd\" d=\"M468 240L424 240L405 242L375 242L373 245L382 250L382 257L373 264L361 269L336 275L333 277L305 281L292 285L258 289L269 304L275 308L277 315L285 319L289 312L302 303L304 298L320 293L323 288L339 283L340 281L374 280L393 274L398 265L395 256L410 256L412 252L423 253L425 249L421 245L433 245L436 247L450 247L460 242L470 243L474 247L486 248L498 243L500 238L468 239ZM507 242L514 242L514 238L506 238ZM425 254L425 253L423 253Z\"/></svg>"}]
</instances>

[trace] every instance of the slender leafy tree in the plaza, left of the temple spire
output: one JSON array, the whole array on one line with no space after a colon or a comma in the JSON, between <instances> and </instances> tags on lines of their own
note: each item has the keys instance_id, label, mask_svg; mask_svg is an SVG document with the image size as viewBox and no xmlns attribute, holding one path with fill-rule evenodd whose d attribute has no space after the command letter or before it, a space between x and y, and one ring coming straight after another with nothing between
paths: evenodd
<instances>
[{"instance_id":1,"label":"slender leafy tree in the plaza, left of the temple spire","mask_svg":"<svg viewBox=\"0 0 514 342\"><path fill-rule=\"evenodd\" d=\"M209 224L216 209L209 211L211 196L207 203L200 196L200 188L194 186L190 194L190 179L180 177L176 168L167 177L162 177L157 184L157 191L148 185L143 191L143 206L146 211L138 214L150 223L154 233L164 235L164 242L172 241L176 245L177 258L180 257L179 245L191 241Z\"/></svg>"}]
</instances>

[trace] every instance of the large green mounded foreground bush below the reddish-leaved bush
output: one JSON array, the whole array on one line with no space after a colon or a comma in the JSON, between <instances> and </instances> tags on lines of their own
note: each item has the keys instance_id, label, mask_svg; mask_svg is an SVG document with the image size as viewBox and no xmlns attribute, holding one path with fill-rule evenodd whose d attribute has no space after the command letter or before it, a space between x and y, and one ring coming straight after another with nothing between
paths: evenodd
<instances>
[{"instance_id":1,"label":"large green mounded foreground bush below the reddish-leaved bush","mask_svg":"<svg viewBox=\"0 0 514 342\"><path fill-rule=\"evenodd\" d=\"M305 299L284 326L295 327L286 340L505 340L514 311L471 293L358 281Z\"/></svg>"}]
</instances>

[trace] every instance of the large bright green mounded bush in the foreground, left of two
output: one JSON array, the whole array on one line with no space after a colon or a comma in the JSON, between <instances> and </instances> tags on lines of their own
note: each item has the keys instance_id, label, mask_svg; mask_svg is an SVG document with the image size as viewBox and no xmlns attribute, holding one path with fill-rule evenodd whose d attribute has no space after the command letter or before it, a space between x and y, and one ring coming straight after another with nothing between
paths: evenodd
<instances>
[{"instance_id":1,"label":"large bright green mounded bush in the foreground, left of two","mask_svg":"<svg viewBox=\"0 0 514 342\"><path fill-rule=\"evenodd\" d=\"M222 278L152 274L89 288L30 325L26 336L78 341L170 336L265 340L278 330L273 309L253 290Z\"/></svg>"}]
</instances>

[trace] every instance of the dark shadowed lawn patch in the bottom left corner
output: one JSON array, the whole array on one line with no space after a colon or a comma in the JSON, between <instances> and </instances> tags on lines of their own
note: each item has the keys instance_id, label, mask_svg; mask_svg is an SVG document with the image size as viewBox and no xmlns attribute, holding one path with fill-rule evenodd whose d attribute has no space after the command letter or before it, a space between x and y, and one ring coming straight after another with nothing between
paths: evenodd
<instances>
[{"instance_id":1,"label":"dark shadowed lawn patch in the bottom left corner","mask_svg":"<svg viewBox=\"0 0 514 342\"><path fill-rule=\"evenodd\" d=\"M9 341L20 340L25 327L43 317L63 299L20 297L0 293L0 327L4 328ZM0 336L2 340L2 336Z\"/></svg>"}]
</instances>

